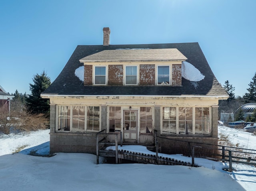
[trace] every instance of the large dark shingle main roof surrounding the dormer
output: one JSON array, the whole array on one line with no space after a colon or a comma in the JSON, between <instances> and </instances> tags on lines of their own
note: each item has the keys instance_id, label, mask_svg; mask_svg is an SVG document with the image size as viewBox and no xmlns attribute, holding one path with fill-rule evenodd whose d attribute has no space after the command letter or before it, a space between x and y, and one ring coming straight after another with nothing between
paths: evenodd
<instances>
[{"instance_id":1,"label":"large dark shingle main roof surrounding the dormer","mask_svg":"<svg viewBox=\"0 0 256 191\"><path fill-rule=\"evenodd\" d=\"M172 86L84 86L74 75L83 66L80 59L104 50L116 49L178 49L205 78L191 82L182 78L182 87ZM155 96L228 96L215 78L198 43L166 43L136 45L78 45L64 69L42 95L155 95Z\"/></svg>"}]
</instances>

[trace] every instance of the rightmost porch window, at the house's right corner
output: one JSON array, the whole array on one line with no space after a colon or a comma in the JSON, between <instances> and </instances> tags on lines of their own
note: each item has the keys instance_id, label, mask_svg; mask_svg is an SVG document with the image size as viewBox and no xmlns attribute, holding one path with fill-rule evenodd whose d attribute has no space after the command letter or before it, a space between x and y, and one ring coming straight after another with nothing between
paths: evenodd
<instances>
[{"instance_id":1,"label":"rightmost porch window, at the house's right corner","mask_svg":"<svg viewBox=\"0 0 256 191\"><path fill-rule=\"evenodd\" d=\"M210 115L208 107L196 107L196 134L210 134Z\"/></svg>"}]
</instances>

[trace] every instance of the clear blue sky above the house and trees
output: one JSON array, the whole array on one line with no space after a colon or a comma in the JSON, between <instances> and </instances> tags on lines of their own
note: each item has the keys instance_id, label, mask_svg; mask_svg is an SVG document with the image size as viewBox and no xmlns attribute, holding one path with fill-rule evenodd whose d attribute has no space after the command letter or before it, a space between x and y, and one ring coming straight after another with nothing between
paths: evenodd
<instances>
[{"instance_id":1,"label":"clear blue sky above the house and trees","mask_svg":"<svg viewBox=\"0 0 256 191\"><path fill-rule=\"evenodd\" d=\"M198 42L216 78L244 95L256 72L255 0L1 0L0 85L30 94L77 45Z\"/></svg>"}]
</instances>

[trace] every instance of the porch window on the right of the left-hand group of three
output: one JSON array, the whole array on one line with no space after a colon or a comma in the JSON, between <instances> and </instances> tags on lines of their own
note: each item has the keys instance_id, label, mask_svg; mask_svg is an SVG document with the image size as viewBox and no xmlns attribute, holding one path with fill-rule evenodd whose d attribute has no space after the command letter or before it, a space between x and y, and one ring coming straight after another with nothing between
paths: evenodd
<instances>
[{"instance_id":1,"label":"porch window on the right of the left-hand group of three","mask_svg":"<svg viewBox=\"0 0 256 191\"><path fill-rule=\"evenodd\" d=\"M100 131L100 107L87 106L86 131Z\"/></svg>"}]
</instances>

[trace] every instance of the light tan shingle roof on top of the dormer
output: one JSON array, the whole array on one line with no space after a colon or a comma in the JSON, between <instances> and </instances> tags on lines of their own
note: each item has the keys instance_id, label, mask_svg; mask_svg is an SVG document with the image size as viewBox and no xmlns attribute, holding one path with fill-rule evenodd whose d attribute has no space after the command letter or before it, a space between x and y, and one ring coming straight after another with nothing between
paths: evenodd
<instances>
[{"instance_id":1,"label":"light tan shingle roof on top of the dormer","mask_svg":"<svg viewBox=\"0 0 256 191\"><path fill-rule=\"evenodd\" d=\"M80 59L80 62L96 61L152 61L186 60L176 48L169 49L117 49L103 50Z\"/></svg>"}]
</instances>

